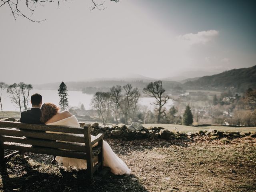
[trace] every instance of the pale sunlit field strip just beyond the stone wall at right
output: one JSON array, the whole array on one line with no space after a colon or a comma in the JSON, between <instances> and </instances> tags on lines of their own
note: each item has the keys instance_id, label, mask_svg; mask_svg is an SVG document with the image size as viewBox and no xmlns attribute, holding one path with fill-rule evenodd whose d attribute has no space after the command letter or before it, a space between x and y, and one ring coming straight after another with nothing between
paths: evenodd
<instances>
[{"instance_id":1,"label":"pale sunlit field strip just beyond the stone wall at right","mask_svg":"<svg viewBox=\"0 0 256 192\"><path fill-rule=\"evenodd\" d=\"M198 130L209 130L216 129L218 131L227 131L227 132L256 132L256 127L229 127L229 126L185 126L185 125L174 125L174 124L144 124L144 127L148 128L150 126L163 127L172 131L175 127L180 132L195 132Z\"/></svg>"}]
</instances>

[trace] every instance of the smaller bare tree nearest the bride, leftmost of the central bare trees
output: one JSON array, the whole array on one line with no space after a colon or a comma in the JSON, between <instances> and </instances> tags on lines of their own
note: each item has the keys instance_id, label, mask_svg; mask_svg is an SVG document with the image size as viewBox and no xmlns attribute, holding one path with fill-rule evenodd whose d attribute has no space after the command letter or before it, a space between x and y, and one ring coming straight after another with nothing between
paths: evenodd
<instances>
[{"instance_id":1,"label":"smaller bare tree nearest the bride, leftmost of the central bare trees","mask_svg":"<svg viewBox=\"0 0 256 192\"><path fill-rule=\"evenodd\" d=\"M96 92L92 98L92 106L98 112L98 116L102 123L106 123L111 118L112 100L109 92Z\"/></svg>"}]
</instances>

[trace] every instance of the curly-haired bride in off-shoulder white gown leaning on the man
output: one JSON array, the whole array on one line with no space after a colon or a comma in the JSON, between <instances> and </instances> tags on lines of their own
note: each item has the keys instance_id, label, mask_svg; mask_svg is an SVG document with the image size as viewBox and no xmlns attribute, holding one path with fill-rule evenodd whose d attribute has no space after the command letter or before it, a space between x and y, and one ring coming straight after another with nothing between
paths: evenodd
<instances>
[{"instance_id":1,"label":"curly-haired bride in off-shoulder white gown leaning on the man","mask_svg":"<svg viewBox=\"0 0 256 192\"><path fill-rule=\"evenodd\" d=\"M46 125L59 125L79 128L77 118L68 111L59 112L59 108L52 103L45 103L42 105L41 122ZM53 133L53 132L48 132ZM79 135L79 134L76 134ZM82 135L81 135L82 136ZM95 136L91 135L93 141ZM116 175L130 174L131 170L128 166L113 152L111 147L106 141L103 141L103 155L104 166L110 167L112 173ZM86 160L75 159L68 157L56 156L56 161L59 165L64 166L66 169L86 169ZM94 159L96 162L97 159Z\"/></svg>"}]
</instances>

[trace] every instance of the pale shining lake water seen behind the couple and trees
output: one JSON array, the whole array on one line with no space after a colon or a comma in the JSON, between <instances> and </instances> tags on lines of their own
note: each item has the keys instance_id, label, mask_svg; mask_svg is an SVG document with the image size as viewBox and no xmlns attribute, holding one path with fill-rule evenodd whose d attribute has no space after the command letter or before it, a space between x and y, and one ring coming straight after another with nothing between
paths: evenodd
<instances>
[{"instance_id":1,"label":"pale shining lake water seen behind the couple and trees","mask_svg":"<svg viewBox=\"0 0 256 192\"><path fill-rule=\"evenodd\" d=\"M30 96L34 93L39 93L42 95L43 103L51 102L58 106L59 103L59 96L57 90L31 90ZM84 107L86 110L90 110L92 106L90 105L90 102L92 100L93 94L84 94L81 91L68 91L68 102L70 107L80 107L81 104L84 104ZM152 97L141 97L138 101L138 103L141 106L145 106L148 108L148 110L154 110L154 105L151 105L150 103L154 102L154 98ZM16 104L14 104L11 101L10 95L6 92L3 92L2 94L2 104L3 104L3 111L20 111L20 109L17 107ZM173 105L173 101L169 100L167 102L166 107L170 108ZM28 108L31 108L31 104L29 102Z\"/></svg>"}]
</instances>

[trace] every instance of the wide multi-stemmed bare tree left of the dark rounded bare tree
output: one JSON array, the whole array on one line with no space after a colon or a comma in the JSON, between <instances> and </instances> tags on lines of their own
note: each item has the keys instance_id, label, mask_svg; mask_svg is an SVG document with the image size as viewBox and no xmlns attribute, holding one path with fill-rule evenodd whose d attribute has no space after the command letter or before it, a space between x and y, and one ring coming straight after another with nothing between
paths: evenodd
<instances>
[{"instance_id":1,"label":"wide multi-stemmed bare tree left of the dark rounded bare tree","mask_svg":"<svg viewBox=\"0 0 256 192\"><path fill-rule=\"evenodd\" d=\"M122 87L120 85L113 86L110 89L110 93L115 112L122 114L124 123L127 124L128 118L134 116L140 94L138 88L132 88L131 84L126 84L123 89L124 94L121 94Z\"/></svg>"}]
</instances>

